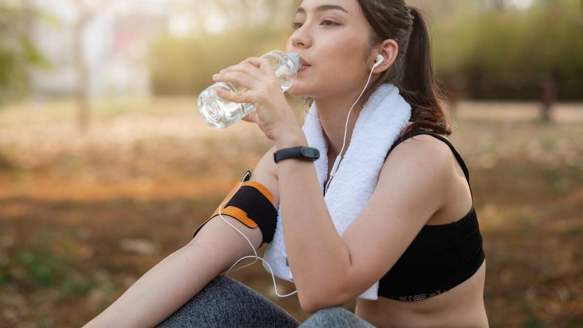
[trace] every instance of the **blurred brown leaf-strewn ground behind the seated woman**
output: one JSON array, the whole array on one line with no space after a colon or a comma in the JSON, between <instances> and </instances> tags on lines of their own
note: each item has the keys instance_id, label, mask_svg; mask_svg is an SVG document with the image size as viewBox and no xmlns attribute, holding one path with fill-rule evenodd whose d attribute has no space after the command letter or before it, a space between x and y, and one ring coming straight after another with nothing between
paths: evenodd
<instances>
[{"instance_id":1,"label":"blurred brown leaf-strewn ground behind the seated woman","mask_svg":"<svg viewBox=\"0 0 583 328\"><path fill-rule=\"evenodd\" d=\"M0 109L0 327L82 326L272 146L252 123L206 126L192 98L96 102L85 135L73 113L69 100ZM583 326L583 104L540 123L536 103L461 102L449 139L470 172L490 326ZM309 316L259 261L229 276Z\"/></svg>"}]
</instances>

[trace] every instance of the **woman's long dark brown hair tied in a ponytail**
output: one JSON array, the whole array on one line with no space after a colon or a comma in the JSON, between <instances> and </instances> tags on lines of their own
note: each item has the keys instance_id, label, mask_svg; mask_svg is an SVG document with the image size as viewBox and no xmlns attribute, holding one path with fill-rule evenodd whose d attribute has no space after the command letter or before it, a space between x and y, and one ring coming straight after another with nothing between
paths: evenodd
<instances>
[{"instance_id":1,"label":"woman's long dark brown hair tied in a ponytail","mask_svg":"<svg viewBox=\"0 0 583 328\"><path fill-rule=\"evenodd\" d=\"M361 109L378 86L392 83L412 109L413 123L403 129L400 137L407 138L418 128L450 135L452 120L434 76L429 33L419 9L407 6L403 0L357 1L371 26L365 58L387 39L396 41L399 52L391 67L369 82L355 108Z\"/></svg>"}]
</instances>

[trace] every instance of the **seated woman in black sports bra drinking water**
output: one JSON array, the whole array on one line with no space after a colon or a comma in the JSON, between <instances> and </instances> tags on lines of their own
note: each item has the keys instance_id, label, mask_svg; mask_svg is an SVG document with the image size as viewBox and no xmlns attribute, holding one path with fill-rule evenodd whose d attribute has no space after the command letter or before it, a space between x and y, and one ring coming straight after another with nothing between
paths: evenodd
<instances>
[{"instance_id":1,"label":"seated woman in black sports bra drinking water","mask_svg":"<svg viewBox=\"0 0 583 328\"><path fill-rule=\"evenodd\" d=\"M280 200L289 204L283 206L293 218L283 218L287 256L300 305L312 316L297 322L264 296L220 275L250 254L250 245L213 216L188 245L154 266L87 327L488 326L486 262L468 170L444 137L451 126L434 81L422 16L403 0L304 0L293 28L286 52L299 54L311 67L298 72L288 92L310 96L317 104L329 145L329 172L332 159L347 149L343 142L350 141L357 118L348 116L345 139L347 113L378 54L385 60L373 68L373 82L356 103L356 113L382 83L398 86L412 107L359 224L341 238L326 218L313 163L273 162L276 150L307 143L268 62L251 57L213 76L249 88L220 96L254 103L257 110L244 120L275 141L255 167L253 180L271 191L275 208ZM261 229L223 217L256 249L261 246ZM384 226L390 228L378 228ZM375 251L365 254L366 249ZM349 271L351 263L360 263L359 271ZM318 270L324 267L337 274L321 278ZM378 300L357 298L356 313L341 307L379 277Z\"/></svg>"}]
</instances>

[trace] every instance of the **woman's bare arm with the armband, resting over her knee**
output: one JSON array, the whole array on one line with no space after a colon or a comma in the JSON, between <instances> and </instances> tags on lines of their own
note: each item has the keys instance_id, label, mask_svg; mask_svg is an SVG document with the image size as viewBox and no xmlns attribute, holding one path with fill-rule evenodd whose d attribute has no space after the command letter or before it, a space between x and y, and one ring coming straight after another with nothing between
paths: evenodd
<instances>
[{"instance_id":1,"label":"woman's bare arm with the armband, resting over her knee","mask_svg":"<svg viewBox=\"0 0 583 328\"><path fill-rule=\"evenodd\" d=\"M273 149L259 161L252 173L252 180L264 184L279 204L275 189L278 182L272 171L275 166L271 165ZM260 229L249 228L229 215L223 215L223 218L245 233L258 249L263 240ZM216 215L187 245L147 271L85 327L154 327L238 259L251 254L253 251L247 240ZM242 260L236 267L252 260Z\"/></svg>"}]
</instances>

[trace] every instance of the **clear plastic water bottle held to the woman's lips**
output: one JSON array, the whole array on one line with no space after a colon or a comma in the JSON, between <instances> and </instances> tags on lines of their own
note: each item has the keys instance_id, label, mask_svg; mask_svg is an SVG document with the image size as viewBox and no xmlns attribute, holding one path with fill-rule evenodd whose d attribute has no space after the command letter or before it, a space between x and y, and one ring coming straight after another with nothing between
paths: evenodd
<instances>
[{"instance_id":1,"label":"clear plastic water bottle held to the woman's lips","mask_svg":"<svg viewBox=\"0 0 583 328\"><path fill-rule=\"evenodd\" d=\"M270 51L261 58L267 58L271 62L275 76L282 85L282 92L286 92L296 81L297 70L301 67L300 58L294 53L286 54L279 50ZM217 129L226 128L255 110L251 103L231 102L217 95L217 87L230 92L247 90L244 86L230 82L216 82L204 89L198 96L198 111L206 124Z\"/></svg>"}]
</instances>

